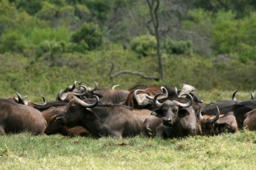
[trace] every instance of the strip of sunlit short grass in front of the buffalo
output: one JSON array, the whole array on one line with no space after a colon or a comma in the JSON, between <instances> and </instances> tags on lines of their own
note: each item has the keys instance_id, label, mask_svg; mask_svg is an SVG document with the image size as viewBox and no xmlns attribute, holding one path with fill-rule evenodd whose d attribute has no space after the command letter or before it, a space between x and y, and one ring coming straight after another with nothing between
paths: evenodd
<instances>
[{"instance_id":1,"label":"strip of sunlit short grass in front of the buffalo","mask_svg":"<svg viewBox=\"0 0 256 170\"><path fill-rule=\"evenodd\" d=\"M182 139L0 137L1 169L255 169L256 133Z\"/></svg>"}]
</instances>

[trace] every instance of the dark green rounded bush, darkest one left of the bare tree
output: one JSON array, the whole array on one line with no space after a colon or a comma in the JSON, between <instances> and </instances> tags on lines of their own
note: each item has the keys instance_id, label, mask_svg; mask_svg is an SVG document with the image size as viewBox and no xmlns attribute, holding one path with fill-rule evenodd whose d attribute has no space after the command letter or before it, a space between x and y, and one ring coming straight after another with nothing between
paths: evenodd
<instances>
[{"instance_id":1,"label":"dark green rounded bush, darkest one left of the bare tree","mask_svg":"<svg viewBox=\"0 0 256 170\"><path fill-rule=\"evenodd\" d=\"M96 24L84 24L82 28L72 34L71 42L84 50L94 50L102 45L102 32Z\"/></svg>"}]
</instances>

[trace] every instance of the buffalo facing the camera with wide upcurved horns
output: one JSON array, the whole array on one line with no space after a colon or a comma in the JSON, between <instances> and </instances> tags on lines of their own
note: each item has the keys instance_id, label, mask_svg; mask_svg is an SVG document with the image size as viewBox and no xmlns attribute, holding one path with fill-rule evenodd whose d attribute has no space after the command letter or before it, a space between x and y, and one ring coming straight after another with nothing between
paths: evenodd
<instances>
[{"instance_id":1,"label":"buffalo facing the camera with wide upcurved horns","mask_svg":"<svg viewBox=\"0 0 256 170\"><path fill-rule=\"evenodd\" d=\"M190 101L181 103L176 100L158 102L158 94L154 97L157 109L152 112L158 118L148 118L143 123L143 134L146 136L159 136L161 138L183 137L197 133L197 121Z\"/></svg>"}]
</instances>

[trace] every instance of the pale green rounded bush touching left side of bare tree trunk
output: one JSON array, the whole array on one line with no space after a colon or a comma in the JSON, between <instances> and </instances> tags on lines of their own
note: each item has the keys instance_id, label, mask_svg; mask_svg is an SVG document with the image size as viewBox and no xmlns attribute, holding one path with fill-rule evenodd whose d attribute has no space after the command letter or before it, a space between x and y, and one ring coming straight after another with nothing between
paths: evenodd
<instances>
[{"instance_id":1,"label":"pale green rounded bush touching left side of bare tree trunk","mask_svg":"<svg viewBox=\"0 0 256 170\"><path fill-rule=\"evenodd\" d=\"M131 50L139 56L148 56L156 52L156 38L150 35L135 37L130 44Z\"/></svg>"}]
</instances>

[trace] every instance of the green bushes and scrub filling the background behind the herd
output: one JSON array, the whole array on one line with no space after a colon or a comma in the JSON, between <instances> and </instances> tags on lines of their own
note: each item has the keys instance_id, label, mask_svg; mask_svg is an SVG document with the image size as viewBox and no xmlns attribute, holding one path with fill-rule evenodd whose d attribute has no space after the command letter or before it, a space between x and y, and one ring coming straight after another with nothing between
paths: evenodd
<instances>
[{"instance_id":1,"label":"green bushes and scrub filling the background behind the herd","mask_svg":"<svg viewBox=\"0 0 256 170\"><path fill-rule=\"evenodd\" d=\"M109 77L121 70L159 75L146 1L1 0L0 91L53 94L74 80L124 89L190 83L205 90L252 90L255 8L253 1L160 1L165 77L157 82Z\"/></svg>"}]
</instances>

